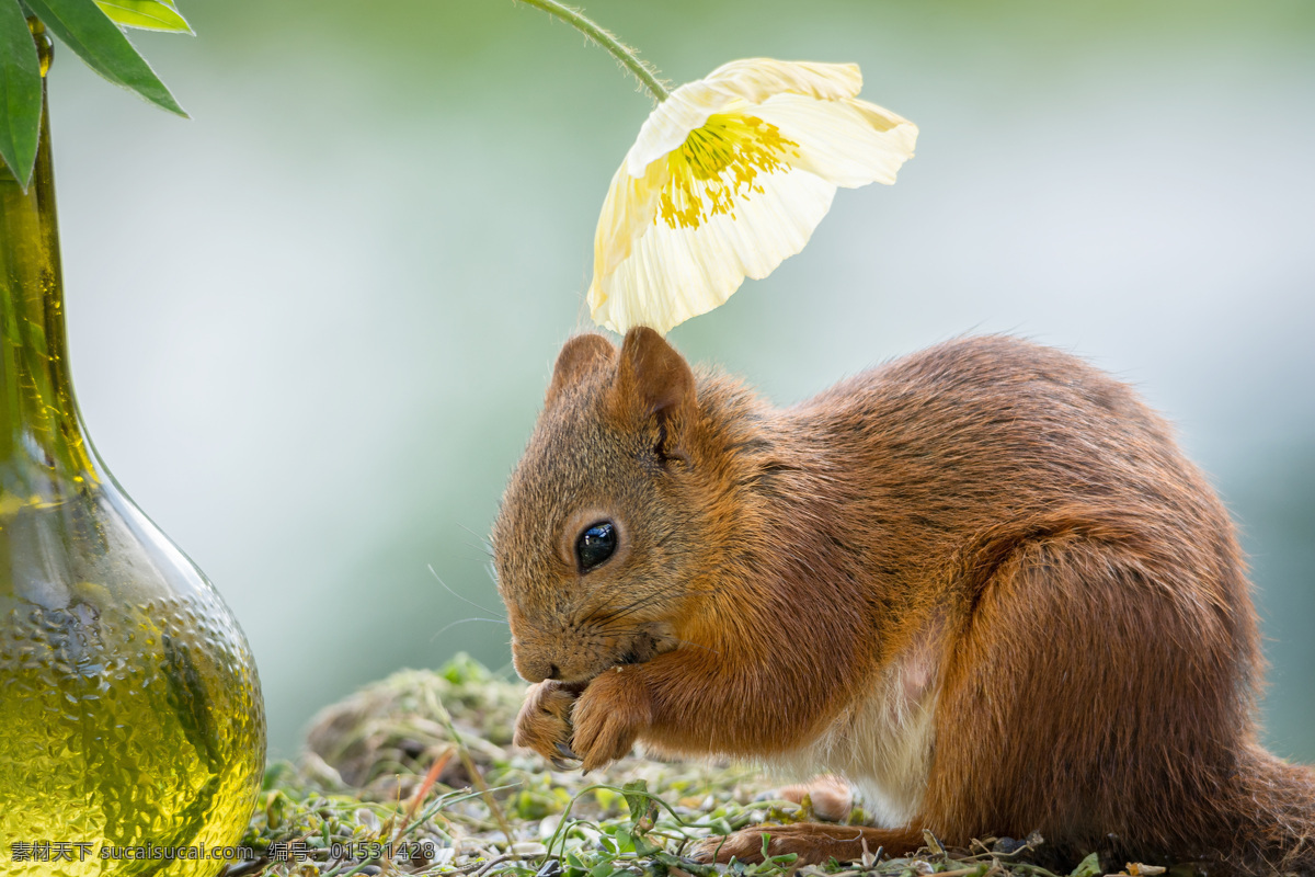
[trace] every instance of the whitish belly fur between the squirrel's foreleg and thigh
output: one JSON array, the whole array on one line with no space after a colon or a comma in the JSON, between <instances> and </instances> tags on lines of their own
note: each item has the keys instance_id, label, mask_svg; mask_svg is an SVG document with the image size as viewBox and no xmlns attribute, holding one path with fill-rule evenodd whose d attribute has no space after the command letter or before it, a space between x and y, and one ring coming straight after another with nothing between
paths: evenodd
<instances>
[{"instance_id":1,"label":"whitish belly fur between the squirrel's foreleg and thigh","mask_svg":"<svg viewBox=\"0 0 1315 877\"><path fill-rule=\"evenodd\" d=\"M935 736L938 661L934 638L919 639L818 740L764 765L798 778L836 773L853 785L878 826L907 826L922 806Z\"/></svg>"}]
</instances>

